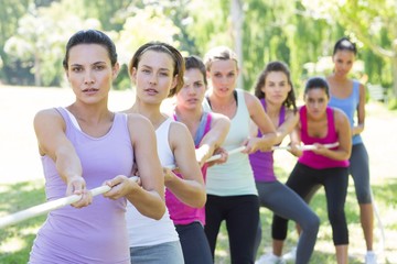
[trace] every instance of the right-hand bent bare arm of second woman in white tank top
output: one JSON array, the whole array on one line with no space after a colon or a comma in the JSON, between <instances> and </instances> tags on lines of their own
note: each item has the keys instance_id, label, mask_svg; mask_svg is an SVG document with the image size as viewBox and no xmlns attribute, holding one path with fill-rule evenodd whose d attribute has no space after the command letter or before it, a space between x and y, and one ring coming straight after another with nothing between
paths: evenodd
<instances>
[{"instance_id":1,"label":"right-hand bent bare arm of second woman in white tank top","mask_svg":"<svg viewBox=\"0 0 397 264\"><path fill-rule=\"evenodd\" d=\"M194 208L202 208L206 201L206 194L203 174L195 157L192 135L183 123L174 122L170 130L169 142L183 178L168 172L165 186L182 202Z\"/></svg>"}]
</instances>

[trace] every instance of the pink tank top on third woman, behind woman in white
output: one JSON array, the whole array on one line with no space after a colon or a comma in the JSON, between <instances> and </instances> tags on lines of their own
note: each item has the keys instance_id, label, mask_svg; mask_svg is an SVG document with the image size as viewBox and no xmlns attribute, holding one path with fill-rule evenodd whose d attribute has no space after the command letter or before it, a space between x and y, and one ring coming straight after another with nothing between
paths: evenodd
<instances>
[{"instance_id":1,"label":"pink tank top on third woman, behind woman in white","mask_svg":"<svg viewBox=\"0 0 397 264\"><path fill-rule=\"evenodd\" d=\"M174 119L178 121L176 116ZM197 129L195 139L200 139L200 141L204 138L204 135L211 129L212 116L210 112L203 113L202 121L200 123L200 128ZM198 134L200 133L200 134ZM200 145L200 141L195 141L195 147L197 148ZM206 178L206 169L207 165L204 164L202 167L202 174L204 177L204 182ZM180 174L176 174L179 177L182 177ZM174 222L174 224L189 224L192 222L201 222L203 226L205 224L205 207L203 208L193 208L186 206L182 201L180 201L169 189L165 189L165 205L170 212L170 218Z\"/></svg>"}]
</instances>

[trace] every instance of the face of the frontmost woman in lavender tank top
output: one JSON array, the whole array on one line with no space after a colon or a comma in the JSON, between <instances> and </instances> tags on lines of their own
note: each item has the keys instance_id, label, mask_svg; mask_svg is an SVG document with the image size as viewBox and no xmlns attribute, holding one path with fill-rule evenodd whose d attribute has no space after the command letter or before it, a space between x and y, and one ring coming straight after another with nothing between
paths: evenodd
<instances>
[{"instance_id":1,"label":"face of the frontmost woman in lavender tank top","mask_svg":"<svg viewBox=\"0 0 397 264\"><path fill-rule=\"evenodd\" d=\"M78 44L69 50L67 79L76 98L95 103L107 98L111 82L118 73L108 51L99 44Z\"/></svg>"}]
</instances>

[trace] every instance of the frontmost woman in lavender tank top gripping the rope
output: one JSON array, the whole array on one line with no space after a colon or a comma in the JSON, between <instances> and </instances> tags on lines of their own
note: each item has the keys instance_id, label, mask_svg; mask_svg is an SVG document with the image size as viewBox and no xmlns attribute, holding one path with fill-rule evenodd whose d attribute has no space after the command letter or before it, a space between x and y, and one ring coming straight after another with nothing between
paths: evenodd
<instances>
[{"instance_id":1,"label":"frontmost woman in lavender tank top gripping the rope","mask_svg":"<svg viewBox=\"0 0 397 264\"><path fill-rule=\"evenodd\" d=\"M164 213L162 170L154 130L140 116L114 113L108 94L119 65L111 40L100 31L79 31L63 62L76 96L66 108L34 118L47 200L82 195L72 207L49 213L34 240L29 263L130 263L125 221L127 200L147 217ZM141 186L130 179L133 160ZM111 189L93 198L88 189Z\"/></svg>"}]
</instances>

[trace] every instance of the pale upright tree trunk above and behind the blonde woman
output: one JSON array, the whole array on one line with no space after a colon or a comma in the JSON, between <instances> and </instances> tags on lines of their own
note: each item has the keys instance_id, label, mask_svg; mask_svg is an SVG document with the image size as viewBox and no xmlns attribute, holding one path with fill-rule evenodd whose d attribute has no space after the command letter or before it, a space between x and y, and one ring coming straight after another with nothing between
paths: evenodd
<instances>
[{"instance_id":1,"label":"pale upright tree trunk above and behind the blonde woman","mask_svg":"<svg viewBox=\"0 0 397 264\"><path fill-rule=\"evenodd\" d=\"M237 54L239 62L239 75L237 79L237 87L244 88L243 85L243 23L244 23L244 12L243 4L240 0L232 0L230 4L230 14L232 14L232 34L234 41L234 50Z\"/></svg>"}]
</instances>

